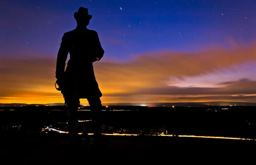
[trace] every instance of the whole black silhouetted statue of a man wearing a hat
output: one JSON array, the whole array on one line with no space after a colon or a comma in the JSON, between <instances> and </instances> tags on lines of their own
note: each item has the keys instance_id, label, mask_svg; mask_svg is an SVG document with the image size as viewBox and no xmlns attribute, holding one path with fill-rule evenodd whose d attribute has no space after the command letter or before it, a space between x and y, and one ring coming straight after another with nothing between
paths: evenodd
<instances>
[{"instance_id":1,"label":"whole black silhouetted statue of a man wearing a hat","mask_svg":"<svg viewBox=\"0 0 256 165\"><path fill-rule=\"evenodd\" d=\"M94 140L96 141L101 136L102 104L100 97L102 97L102 93L94 75L93 62L99 61L103 57L104 50L97 32L86 27L92 18L88 14L88 9L80 7L78 12L74 13L74 17L77 27L64 33L58 51L56 83L64 96L69 112L71 143L77 145L80 142L78 138L78 108L81 98L87 99L90 105ZM65 70L68 53L70 60Z\"/></svg>"}]
</instances>

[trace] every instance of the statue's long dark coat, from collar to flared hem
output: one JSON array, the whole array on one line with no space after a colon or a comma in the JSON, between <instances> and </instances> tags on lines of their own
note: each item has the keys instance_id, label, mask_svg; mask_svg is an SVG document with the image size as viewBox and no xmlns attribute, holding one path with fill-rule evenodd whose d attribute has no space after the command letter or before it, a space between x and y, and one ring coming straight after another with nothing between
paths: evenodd
<instances>
[{"instance_id":1,"label":"statue's long dark coat, from collar to flared hem","mask_svg":"<svg viewBox=\"0 0 256 165\"><path fill-rule=\"evenodd\" d=\"M68 53L70 60L65 70ZM66 93L77 92L79 98L102 97L94 75L93 62L99 61L103 54L96 31L76 27L64 33L56 65L56 78L64 82L61 88Z\"/></svg>"}]
</instances>

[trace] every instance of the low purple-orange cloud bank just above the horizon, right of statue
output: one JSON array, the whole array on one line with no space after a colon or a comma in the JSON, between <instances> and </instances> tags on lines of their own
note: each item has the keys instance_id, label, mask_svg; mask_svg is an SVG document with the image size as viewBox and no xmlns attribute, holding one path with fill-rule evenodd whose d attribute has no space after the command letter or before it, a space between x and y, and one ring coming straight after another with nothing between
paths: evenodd
<instances>
[{"instance_id":1,"label":"low purple-orange cloud bank just above the horizon, right of statue","mask_svg":"<svg viewBox=\"0 0 256 165\"><path fill-rule=\"evenodd\" d=\"M198 102L198 101L256 101L256 81L241 79L232 84L216 88L195 88L166 86L141 88L136 92L109 94L107 97L129 98L129 100L162 100L162 102ZM135 98L136 99L135 99ZM143 102L140 101L140 102Z\"/></svg>"}]
</instances>

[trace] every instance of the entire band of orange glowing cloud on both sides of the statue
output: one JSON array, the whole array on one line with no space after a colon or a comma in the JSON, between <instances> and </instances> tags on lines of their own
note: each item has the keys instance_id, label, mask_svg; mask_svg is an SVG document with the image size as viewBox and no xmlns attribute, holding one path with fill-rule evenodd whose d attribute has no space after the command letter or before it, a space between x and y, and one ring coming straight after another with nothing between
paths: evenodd
<instances>
[{"instance_id":1,"label":"entire band of orange glowing cloud on both sides of the statue","mask_svg":"<svg viewBox=\"0 0 256 165\"><path fill-rule=\"evenodd\" d=\"M243 63L253 63L256 62L255 53L254 45L232 50L218 48L193 54L165 51L138 54L127 62L96 62L94 70L103 93L102 102L179 102L204 99L230 101L238 98L246 101L253 100L253 94L256 94L254 80L237 77L241 80L223 80L221 86L216 84L215 87L203 88L193 87L193 84L179 87L170 78L186 80L184 77L200 77ZM0 97L15 96L16 100L23 98L24 102L31 100L28 103L35 101L32 97L41 98L41 102L34 103L63 100L54 87L56 58L47 58L47 54L40 52L29 54L20 54L19 58L13 58L13 54L0 54L4 57L0 60ZM31 54L38 56L32 57ZM15 99L9 101L13 102Z\"/></svg>"}]
</instances>

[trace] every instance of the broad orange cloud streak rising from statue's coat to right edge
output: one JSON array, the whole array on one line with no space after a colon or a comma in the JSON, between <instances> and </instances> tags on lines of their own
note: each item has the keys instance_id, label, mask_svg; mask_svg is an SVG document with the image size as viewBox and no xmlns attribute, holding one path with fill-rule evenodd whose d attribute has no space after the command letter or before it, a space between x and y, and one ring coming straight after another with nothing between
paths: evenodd
<instances>
[{"instance_id":1,"label":"broad orange cloud streak rising from statue's coat to right edge","mask_svg":"<svg viewBox=\"0 0 256 165\"><path fill-rule=\"evenodd\" d=\"M97 79L104 88L120 91L166 86L170 77L200 76L220 69L256 61L256 48L233 51L219 48L197 54L159 52L137 55L125 63L96 63Z\"/></svg>"}]
</instances>

